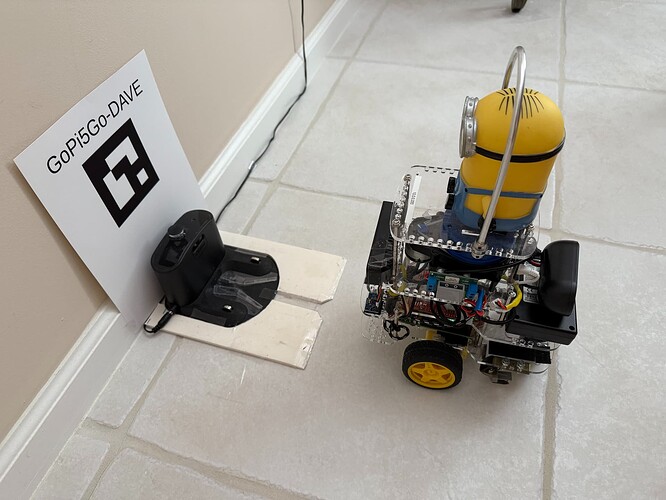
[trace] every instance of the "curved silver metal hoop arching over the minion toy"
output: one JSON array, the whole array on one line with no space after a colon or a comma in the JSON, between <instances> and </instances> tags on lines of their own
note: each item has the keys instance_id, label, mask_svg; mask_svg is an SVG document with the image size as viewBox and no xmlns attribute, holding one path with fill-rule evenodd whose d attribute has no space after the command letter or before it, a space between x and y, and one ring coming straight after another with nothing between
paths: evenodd
<instances>
[{"instance_id":1,"label":"curved silver metal hoop arching over the minion toy","mask_svg":"<svg viewBox=\"0 0 666 500\"><path fill-rule=\"evenodd\" d=\"M513 115L511 117L511 125L509 126L509 136L506 140L506 147L504 149L504 156L502 156L502 163L500 165L499 173L497 174L497 180L495 181L495 187L493 188L493 195L490 198L490 205L488 206L488 212L486 217L483 220L483 226L481 227L481 232L479 233L479 239L476 240L473 248L473 255L476 258L481 258L485 255L486 251L486 238L488 236L488 231L490 230L490 224L492 223L493 217L495 217L495 210L497 209L497 203L499 202L500 194L502 193L502 187L504 186L504 179L506 174L509 171L509 163L511 163L511 156L513 155L513 147L516 144L516 135L518 132L518 122L520 121L520 113L523 109L523 93L525 92L525 74L527 59L525 57L525 49L520 45L513 49L511 57L509 58L509 64L506 67L504 72L504 80L502 81L502 88L505 89L509 86L509 80L511 79L511 73L513 73L513 67L516 68L516 103L513 107Z\"/></svg>"}]
</instances>

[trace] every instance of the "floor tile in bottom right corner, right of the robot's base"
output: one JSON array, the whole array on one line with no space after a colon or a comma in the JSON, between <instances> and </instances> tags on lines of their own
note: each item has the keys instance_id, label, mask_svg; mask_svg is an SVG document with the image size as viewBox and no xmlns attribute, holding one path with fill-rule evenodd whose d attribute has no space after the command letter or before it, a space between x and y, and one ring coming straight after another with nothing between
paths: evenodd
<instances>
[{"instance_id":1,"label":"floor tile in bottom right corner, right of the robot's base","mask_svg":"<svg viewBox=\"0 0 666 500\"><path fill-rule=\"evenodd\" d=\"M579 334L558 353L557 498L663 498L666 256L581 246Z\"/></svg>"}]
</instances>

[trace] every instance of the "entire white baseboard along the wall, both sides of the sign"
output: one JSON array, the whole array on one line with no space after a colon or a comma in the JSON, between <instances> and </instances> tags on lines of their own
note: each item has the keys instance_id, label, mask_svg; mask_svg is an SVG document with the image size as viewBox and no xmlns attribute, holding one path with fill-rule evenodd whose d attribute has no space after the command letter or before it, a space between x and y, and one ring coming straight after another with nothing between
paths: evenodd
<instances>
[{"instance_id":1,"label":"entire white baseboard along the wall, both sides of the sign","mask_svg":"<svg viewBox=\"0 0 666 500\"><path fill-rule=\"evenodd\" d=\"M314 76L358 8L336 0L305 46ZM209 209L218 213L242 182L250 162L301 91L303 61L294 56L248 119L200 180ZM109 302L92 318L77 343L0 443L0 498L30 498L103 390L139 332Z\"/></svg>"}]
</instances>

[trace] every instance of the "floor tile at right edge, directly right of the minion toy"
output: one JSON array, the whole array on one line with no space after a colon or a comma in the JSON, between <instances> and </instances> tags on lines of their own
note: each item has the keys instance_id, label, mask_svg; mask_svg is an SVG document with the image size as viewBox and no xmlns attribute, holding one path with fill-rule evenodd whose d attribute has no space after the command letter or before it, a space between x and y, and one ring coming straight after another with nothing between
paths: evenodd
<instances>
[{"instance_id":1,"label":"floor tile at right edge, directly right of the minion toy","mask_svg":"<svg viewBox=\"0 0 666 500\"><path fill-rule=\"evenodd\" d=\"M562 226L599 239L666 247L666 94L567 84Z\"/></svg>"}]
</instances>

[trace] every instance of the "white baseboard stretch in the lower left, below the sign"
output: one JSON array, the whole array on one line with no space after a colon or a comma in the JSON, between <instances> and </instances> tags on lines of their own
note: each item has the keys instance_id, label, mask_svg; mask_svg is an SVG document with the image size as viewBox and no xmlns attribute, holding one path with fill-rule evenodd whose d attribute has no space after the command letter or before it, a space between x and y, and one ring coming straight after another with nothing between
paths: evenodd
<instances>
[{"instance_id":1,"label":"white baseboard stretch in the lower left, below the sign","mask_svg":"<svg viewBox=\"0 0 666 500\"><path fill-rule=\"evenodd\" d=\"M0 445L0 498L30 498L136 340L105 303Z\"/></svg>"}]
</instances>

